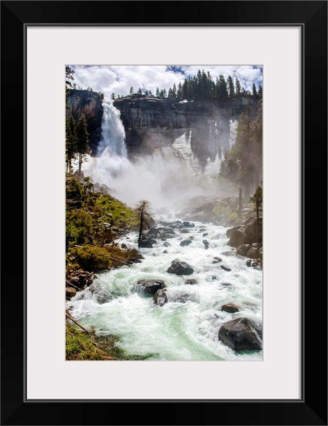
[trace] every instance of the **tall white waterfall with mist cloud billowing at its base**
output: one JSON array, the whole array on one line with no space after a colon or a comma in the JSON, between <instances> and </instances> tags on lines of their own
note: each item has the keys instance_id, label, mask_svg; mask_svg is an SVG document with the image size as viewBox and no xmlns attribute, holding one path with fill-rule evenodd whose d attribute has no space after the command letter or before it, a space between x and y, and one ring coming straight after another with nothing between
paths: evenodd
<instances>
[{"instance_id":1,"label":"tall white waterfall with mist cloud billowing at its base","mask_svg":"<svg viewBox=\"0 0 328 426\"><path fill-rule=\"evenodd\" d=\"M152 155L128 159L120 113L111 101L104 100L103 105L101 154L98 157L88 156L82 171L93 182L107 185L115 198L130 207L139 200L148 200L156 210L161 207L182 208L190 198L199 195L236 195L236 188L220 183L217 175L193 172L191 166L197 169L197 159L188 146L179 143L181 138L172 147L155 149ZM184 153L188 156L188 163L183 158ZM206 172L211 172L215 165L213 171L217 173L219 163L218 158L210 162Z\"/></svg>"}]
</instances>

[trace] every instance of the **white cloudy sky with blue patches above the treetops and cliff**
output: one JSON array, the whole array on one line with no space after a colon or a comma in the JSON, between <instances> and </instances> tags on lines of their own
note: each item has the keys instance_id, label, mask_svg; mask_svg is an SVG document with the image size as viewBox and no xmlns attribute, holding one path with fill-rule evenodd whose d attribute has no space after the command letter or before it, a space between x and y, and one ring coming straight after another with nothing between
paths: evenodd
<instances>
[{"instance_id":1,"label":"white cloudy sky with blue patches above the treetops and cliff","mask_svg":"<svg viewBox=\"0 0 328 426\"><path fill-rule=\"evenodd\" d=\"M83 89L91 87L94 92L103 92L105 97L110 98L112 93L120 96L129 94L130 87L133 87L134 93L141 88L142 92L151 90L155 94L156 88L159 90L170 89L175 83L178 86L179 81L189 76L193 77L198 70L210 71L213 80L219 74L223 74L227 79L231 75L235 81L238 77L240 86L245 90L252 90L253 83L262 84L262 67L252 65L92 65L92 66L74 66L74 81L76 86Z\"/></svg>"}]
</instances>

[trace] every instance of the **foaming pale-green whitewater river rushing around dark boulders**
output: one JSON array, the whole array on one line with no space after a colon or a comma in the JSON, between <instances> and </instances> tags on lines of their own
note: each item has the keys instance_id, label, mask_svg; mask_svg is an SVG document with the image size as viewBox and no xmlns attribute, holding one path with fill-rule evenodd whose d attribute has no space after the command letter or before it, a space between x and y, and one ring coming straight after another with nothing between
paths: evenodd
<instances>
[{"instance_id":1,"label":"foaming pale-green whitewater river rushing around dark boulders","mask_svg":"<svg viewBox=\"0 0 328 426\"><path fill-rule=\"evenodd\" d=\"M166 222L177 219L174 212L157 217ZM218 340L220 326L230 319L247 317L262 324L262 271L248 267L247 258L222 254L231 250L227 228L193 223L194 228L174 229L174 238L167 239L168 247L158 239L153 248L139 248L144 256L141 263L97 273L94 291L88 287L78 292L66 302L66 308L97 335L117 336L116 346L127 356L147 360L262 360L262 351L236 352ZM192 243L181 247L181 240L191 236ZM204 239L209 242L208 249ZM117 241L137 248L137 233ZM222 262L212 263L215 257ZM167 273L175 259L187 262L194 273ZM221 269L221 264L231 271ZM190 278L197 284L186 284ZM152 295L144 294L136 285L140 279L165 281L168 303L154 305ZM239 312L221 311L226 303L236 304Z\"/></svg>"}]
</instances>

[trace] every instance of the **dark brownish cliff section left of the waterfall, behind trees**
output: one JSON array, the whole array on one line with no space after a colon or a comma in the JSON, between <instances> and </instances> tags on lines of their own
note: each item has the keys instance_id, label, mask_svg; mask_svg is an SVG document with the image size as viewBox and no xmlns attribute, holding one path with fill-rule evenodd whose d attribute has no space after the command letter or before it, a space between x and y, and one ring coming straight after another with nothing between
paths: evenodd
<instances>
[{"instance_id":1,"label":"dark brownish cliff section left of the waterfall, behind trees","mask_svg":"<svg viewBox=\"0 0 328 426\"><path fill-rule=\"evenodd\" d=\"M85 115L88 123L89 145L91 155L97 155L97 147L101 138L101 120L103 119L103 99L104 95L89 90L70 90L67 97L67 104L70 109L66 110L66 115L73 115L78 121L82 114Z\"/></svg>"}]
</instances>

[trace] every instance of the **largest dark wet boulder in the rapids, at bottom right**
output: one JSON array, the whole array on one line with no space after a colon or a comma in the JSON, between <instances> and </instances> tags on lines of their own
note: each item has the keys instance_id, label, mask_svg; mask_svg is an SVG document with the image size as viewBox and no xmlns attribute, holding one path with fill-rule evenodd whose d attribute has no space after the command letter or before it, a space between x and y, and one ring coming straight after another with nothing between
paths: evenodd
<instances>
[{"instance_id":1,"label":"largest dark wet boulder in the rapids, at bottom right","mask_svg":"<svg viewBox=\"0 0 328 426\"><path fill-rule=\"evenodd\" d=\"M222 324L218 337L235 351L262 349L260 328L249 318L236 318Z\"/></svg>"}]
</instances>

